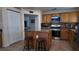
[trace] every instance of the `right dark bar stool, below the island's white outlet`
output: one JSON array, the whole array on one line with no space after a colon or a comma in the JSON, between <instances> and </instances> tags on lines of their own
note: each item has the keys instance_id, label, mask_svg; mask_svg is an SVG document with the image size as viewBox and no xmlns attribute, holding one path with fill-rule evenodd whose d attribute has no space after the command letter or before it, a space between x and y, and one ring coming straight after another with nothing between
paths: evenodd
<instances>
[{"instance_id":1,"label":"right dark bar stool, below the island's white outlet","mask_svg":"<svg viewBox=\"0 0 79 59\"><path fill-rule=\"evenodd\" d=\"M45 38L38 38L36 40L36 51L46 51L46 40L45 40Z\"/></svg>"}]
</instances>

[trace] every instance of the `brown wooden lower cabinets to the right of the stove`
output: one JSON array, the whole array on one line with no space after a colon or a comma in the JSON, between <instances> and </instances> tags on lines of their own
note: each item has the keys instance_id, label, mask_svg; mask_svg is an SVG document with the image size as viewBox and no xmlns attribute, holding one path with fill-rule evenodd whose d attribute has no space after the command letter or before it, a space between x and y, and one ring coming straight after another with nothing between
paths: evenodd
<instances>
[{"instance_id":1,"label":"brown wooden lower cabinets to the right of the stove","mask_svg":"<svg viewBox=\"0 0 79 59\"><path fill-rule=\"evenodd\" d=\"M68 29L62 29L61 30L61 39L66 40L69 43L73 44L73 41L75 39L74 31L68 30Z\"/></svg>"}]
</instances>

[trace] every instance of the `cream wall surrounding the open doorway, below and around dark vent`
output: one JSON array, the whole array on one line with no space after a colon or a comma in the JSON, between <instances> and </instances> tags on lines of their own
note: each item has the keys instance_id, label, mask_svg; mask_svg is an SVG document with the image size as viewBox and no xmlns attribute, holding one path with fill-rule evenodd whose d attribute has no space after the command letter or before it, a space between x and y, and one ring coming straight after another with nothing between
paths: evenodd
<instances>
[{"instance_id":1,"label":"cream wall surrounding the open doorway, below and around dark vent","mask_svg":"<svg viewBox=\"0 0 79 59\"><path fill-rule=\"evenodd\" d=\"M36 27L36 31L40 31L41 30L41 25L40 25L40 23L41 23L41 20L42 20L42 13L41 13L41 11L40 10L32 10L32 11L34 11L34 13L29 13L29 11L30 11L30 9L22 9L22 13L23 13L23 15L24 14L30 14L30 15L38 15L38 17L37 17L37 20L36 20L36 23L35 23L35 27ZM23 19L24 19L24 16L23 16Z\"/></svg>"}]
</instances>

